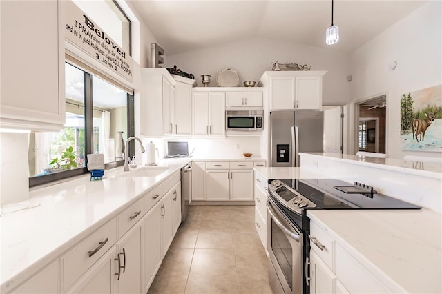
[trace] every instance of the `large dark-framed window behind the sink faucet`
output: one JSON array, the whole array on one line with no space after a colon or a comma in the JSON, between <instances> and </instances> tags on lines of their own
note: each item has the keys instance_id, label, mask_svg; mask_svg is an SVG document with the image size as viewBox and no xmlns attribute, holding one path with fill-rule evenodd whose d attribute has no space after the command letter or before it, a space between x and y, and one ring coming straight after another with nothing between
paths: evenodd
<instances>
[{"instance_id":1,"label":"large dark-framed window behind the sink faucet","mask_svg":"<svg viewBox=\"0 0 442 294\"><path fill-rule=\"evenodd\" d=\"M87 173L86 155L123 164L122 142L133 130L133 95L66 63L66 124L58 133L30 133L30 186Z\"/></svg>"}]
</instances>

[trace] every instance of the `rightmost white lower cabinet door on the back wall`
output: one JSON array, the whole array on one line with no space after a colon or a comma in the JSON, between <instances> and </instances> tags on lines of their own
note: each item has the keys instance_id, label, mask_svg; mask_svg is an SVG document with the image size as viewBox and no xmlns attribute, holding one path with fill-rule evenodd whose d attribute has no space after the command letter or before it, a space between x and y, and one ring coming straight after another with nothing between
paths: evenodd
<instances>
[{"instance_id":1,"label":"rightmost white lower cabinet door on the back wall","mask_svg":"<svg viewBox=\"0 0 442 294\"><path fill-rule=\"evenodd\" d=\"M231 170L230 199L253 200L253 170Z\"/></svg>"}]
</instances>

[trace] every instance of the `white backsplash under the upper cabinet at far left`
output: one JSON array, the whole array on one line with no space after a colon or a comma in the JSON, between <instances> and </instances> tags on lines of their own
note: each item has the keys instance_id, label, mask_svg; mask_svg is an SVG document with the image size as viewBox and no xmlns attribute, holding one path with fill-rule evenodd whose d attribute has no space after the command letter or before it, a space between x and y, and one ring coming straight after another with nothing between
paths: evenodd
<instances>
[{"instance_id":1,"label":"white backsplash under the upper cabinet at far left","mask_svg":"<svg viewBox=\"0 0 442 294\"><path fill-rule=\"evenodd\" d=\"M29 199L28 134L0 133L0 205Z\"/></svg>"}]
</instances>

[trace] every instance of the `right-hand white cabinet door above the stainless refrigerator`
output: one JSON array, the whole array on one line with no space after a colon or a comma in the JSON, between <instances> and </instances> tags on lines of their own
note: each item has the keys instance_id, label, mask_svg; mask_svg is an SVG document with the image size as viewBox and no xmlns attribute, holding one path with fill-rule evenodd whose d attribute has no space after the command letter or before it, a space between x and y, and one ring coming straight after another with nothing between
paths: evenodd
<instances>
[{"instance_id":1,"label":"right-hand white cabinet door above the stainless refrigerator","mask_svg":"<svg viewBox=\"0 0 442 294\"><path fill-rule=\"evenodd\" d=\"M296 77L295 108L320 110L322 104L322 77Z\"/></svg>"}]
</instances>

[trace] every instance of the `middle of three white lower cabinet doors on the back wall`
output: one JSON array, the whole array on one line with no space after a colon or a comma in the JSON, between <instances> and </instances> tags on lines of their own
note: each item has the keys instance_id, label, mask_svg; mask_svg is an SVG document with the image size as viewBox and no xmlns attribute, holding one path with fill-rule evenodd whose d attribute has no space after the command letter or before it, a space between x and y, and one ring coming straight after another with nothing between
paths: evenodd
<instances>
[{"instance_id":1,"label":"middle of three white lower cabinet doors on the back wall","mask_svg":"<svg viewBox=\"0 0 442 294\"><path fill-rule=\"evenodd\" d=\"M206 199L229 200L229 170L206 170Z\"/></svg>"}]
</instances>

